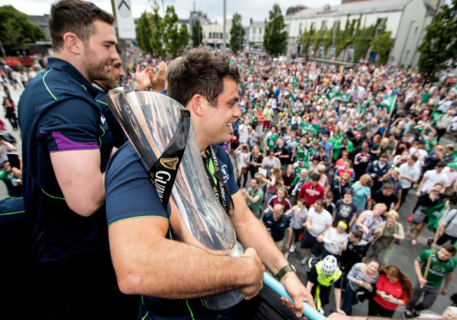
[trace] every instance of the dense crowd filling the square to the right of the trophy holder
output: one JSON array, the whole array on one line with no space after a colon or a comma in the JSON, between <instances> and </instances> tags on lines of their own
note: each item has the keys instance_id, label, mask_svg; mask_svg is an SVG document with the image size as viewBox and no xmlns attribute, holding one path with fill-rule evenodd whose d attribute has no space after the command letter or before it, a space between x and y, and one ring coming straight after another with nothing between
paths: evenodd
<instances>
[{"instance_id":1,"label":"dense crowd filling the square to the right of the trophy holder","mask_svg":"<svg viewBox=\"0 0 457 320\"><path fill-rule=\"evenodd\" d=\"M456 156L442 139L456 134L455 79L432 84L411 68L364 61L337 68L231 58L244 75L242 114L228 145L238 186L285 257L304 249L316 306L323 312L333 285L333 309L341 314L351 314L356 297L370 300L373 316L392 317L406 305L409 318L431 307L437 294L429 291L437 293L443 279L444 290L449 286L456 263ZM413 186L418 191L408 197ZM414 196L413 210L401 209ZM453 267L439 283L427 278L431 289L413 291L390 257L402 241L417 245L428 223L423 210L446 200L452 210L444 212L437 241L444 247L434 254L446 251L443 261ZM410 216L408 226L400 213ZM419 281L424 270L416 270Z\"/></svg>"}]
</instances>

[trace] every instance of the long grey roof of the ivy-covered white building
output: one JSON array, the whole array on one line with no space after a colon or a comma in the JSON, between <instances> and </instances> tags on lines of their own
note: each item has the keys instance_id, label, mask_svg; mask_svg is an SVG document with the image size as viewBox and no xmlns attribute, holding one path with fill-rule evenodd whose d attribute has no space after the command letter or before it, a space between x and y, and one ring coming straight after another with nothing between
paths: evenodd
<instances>
[{"instance_id":1,"label":"long grey roof of the ivy-covered white building","mask_svg":"<svg viewBox=\"0 0 457 320\"><path fill-rule=\"evenodd\" d=\"M411 0L362 0L341 4L340 6L322 6L306 8L288 15L287 19L315 18L326 15L356 15L361 13L377 13L385 11L403 11Z\"/></svg>"}]
</instances>

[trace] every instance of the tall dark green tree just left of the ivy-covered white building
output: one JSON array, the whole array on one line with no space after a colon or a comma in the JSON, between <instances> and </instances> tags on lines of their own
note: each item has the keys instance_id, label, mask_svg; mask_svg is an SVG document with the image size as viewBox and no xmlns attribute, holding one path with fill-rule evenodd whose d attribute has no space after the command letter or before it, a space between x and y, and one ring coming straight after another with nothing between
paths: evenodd
<instances>
[{"instance_id":1,"label":"tall dark green tree just left of the ivy-covered white building","mask_svg":"<svg viewBox=\"0 0 457 320\"><path fill-rule=\"evenodd\" d=\"M285 41L288 33L285 31L283 13L278 4L270 11L269 22L265 25L264 47L271 56L285 53Z\"/></svg>"}]
</instances>

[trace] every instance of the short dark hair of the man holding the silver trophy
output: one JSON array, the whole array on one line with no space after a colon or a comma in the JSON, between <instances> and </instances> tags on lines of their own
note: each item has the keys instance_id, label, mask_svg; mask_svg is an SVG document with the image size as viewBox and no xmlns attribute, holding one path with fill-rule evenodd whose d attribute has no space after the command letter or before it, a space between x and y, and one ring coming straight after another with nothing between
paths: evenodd
<instances>
[{"instance_id":1,"label":"short dark hair of the man holding the silver trophy","mask_svg":"<svg viewBox=\"0 0 457 320\"><path fill-rule=\"evenodd\" d=\"M186 107L195 94L201 94L215 107L226 78L237 83L240 79L238 68L226 56L192 49L169 64L167 95Z\"/></svg>"}]
</instances>

